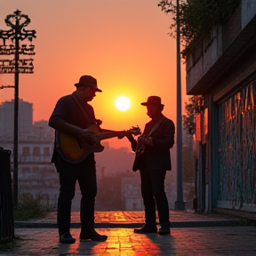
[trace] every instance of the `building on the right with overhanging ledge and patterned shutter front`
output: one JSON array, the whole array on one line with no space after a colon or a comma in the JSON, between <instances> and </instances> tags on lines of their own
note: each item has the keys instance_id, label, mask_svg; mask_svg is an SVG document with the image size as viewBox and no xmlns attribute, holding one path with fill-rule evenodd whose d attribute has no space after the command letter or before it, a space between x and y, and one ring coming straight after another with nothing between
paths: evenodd
<instances>
[{"instance_id":1,"label":"building on the right with overhanging ledge and patterned shutter front","mask_svg":"<svg viewBox=\"0 0 256 256\"><path fill-rule=\"evenodd\" d=\"M201 100L199 210L256 212L256 2L241 0L187 59L187 93ZM200 105L200 104L199 104Z\"/></svg>"}]
</instances>

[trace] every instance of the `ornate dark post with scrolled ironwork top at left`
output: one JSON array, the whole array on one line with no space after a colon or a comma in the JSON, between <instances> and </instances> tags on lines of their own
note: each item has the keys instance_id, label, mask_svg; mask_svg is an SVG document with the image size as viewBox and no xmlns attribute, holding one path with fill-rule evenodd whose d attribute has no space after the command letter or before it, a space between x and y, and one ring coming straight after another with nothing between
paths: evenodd
<instances>
[{"instance_id":1,"label":"ornate dark post with scrolled ironwork top at left","mask_svg":"<svg viewBox=\"0 0 256 256\"><path fill-rule=\"evenodd\" d=\"M19 116L19 74L33 74L34 66L32 55L35 55L36 30L27 30L25 27L30 23L28 15L21 14L19 10L7 15L4 20L9 30L0 30L0 39L4 44L0 45L0 55L14 55L12 60L0 60L0 72L14 74L14 132L13 132L13 206L18 205L18 116ZM11 39L12 44L6 45L6 40ZM28 39L29 45L21 44L20 41ZM14 43L14 44L13 44ZM28 55L29 59L20 59L20 55Z\"/></svg>"}]
</instances>

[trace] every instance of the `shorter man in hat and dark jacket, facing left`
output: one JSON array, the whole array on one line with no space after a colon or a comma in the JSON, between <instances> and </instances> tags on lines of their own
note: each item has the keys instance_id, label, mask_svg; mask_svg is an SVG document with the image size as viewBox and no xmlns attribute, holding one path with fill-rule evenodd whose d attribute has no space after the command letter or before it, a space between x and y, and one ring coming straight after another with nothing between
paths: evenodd
<instances>
[{"instance_id":1,"label":"shorter man in hat and dark jacket, facing left","mask_svg":"<svg viewBox=\"0 0 256 256\"><path fill-rule=\"evenodd\" d=\"M128 134L132 150L136 153L132 166L134 172L140 170L141 195L145 206L145 225L135 228L139 234L156 233L156 207L161 228L159 235L170 234L169 205L164 191L166 171L172 170L170 148L174 144L175 126L172 120L162 114L164 104L158 96L149 96L147 115L151 118L145 125L138 141Z\"/></svg>"}]
</instances>

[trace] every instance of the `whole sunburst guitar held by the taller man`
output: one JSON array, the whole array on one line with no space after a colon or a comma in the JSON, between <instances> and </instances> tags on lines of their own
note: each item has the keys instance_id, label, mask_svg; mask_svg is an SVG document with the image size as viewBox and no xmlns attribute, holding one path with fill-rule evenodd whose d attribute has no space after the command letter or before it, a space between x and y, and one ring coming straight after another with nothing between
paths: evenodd
<instances>
[{"instance_id":1,"label":"whole sunburst guitar held by the taller man","mask_svg":"<svg viewBox=\"0 0 256 256\"><path fill-rule=\"evenodd\" d=\"M58 132L59 145L57 150L67 162L77 164L81 163L92 152L101 152L104 147L100 144L100 140L110 139L114 137L123 138L128 132L133 135L140 134L139 127L132 127L128 131L121 132L101 132L100 126L92 124L83 135L74 137L64 132Z\"/></svg>"}]
</instances>

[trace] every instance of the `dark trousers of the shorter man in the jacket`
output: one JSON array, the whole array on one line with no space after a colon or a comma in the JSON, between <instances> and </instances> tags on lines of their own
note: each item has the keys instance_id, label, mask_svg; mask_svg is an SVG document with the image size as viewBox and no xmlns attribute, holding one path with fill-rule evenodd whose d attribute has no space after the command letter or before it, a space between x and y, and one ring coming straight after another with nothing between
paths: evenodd
<instances>
[{"instance_id":1,"label":"dark trousers of the shorter man in the jacket","mask_svg":"<svg viewBox=\"0 0 256 256\"><path fill-rule=\"evenodd\" d=\"M169 205L164 191L166 171L140 169L141 196L145 206L146 224L156 225L156 207L162 227L170 227Z\"/></svg>"}]
</instances>

